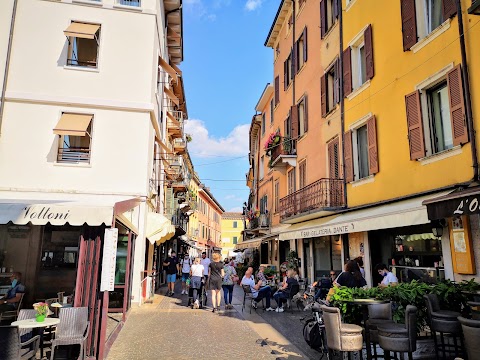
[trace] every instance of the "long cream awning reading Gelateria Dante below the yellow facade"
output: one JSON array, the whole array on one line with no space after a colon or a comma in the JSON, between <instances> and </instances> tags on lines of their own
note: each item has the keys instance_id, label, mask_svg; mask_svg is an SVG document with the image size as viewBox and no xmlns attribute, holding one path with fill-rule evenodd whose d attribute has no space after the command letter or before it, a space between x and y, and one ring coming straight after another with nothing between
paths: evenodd
<instances>
[{"instance_id":1,"label":"long cream awning reading Gelateria Dante below the yellow facade","mask_svg":"<svg viewBox=\"0 0 480 360\"><path fill-rule=\"evenodd\" d=\"M279 234L280 240L305 239L353 232L428 224L427 208L422 203L447 192L356 210L341 215L305 221Z\"/></svg>"}]
</instances>

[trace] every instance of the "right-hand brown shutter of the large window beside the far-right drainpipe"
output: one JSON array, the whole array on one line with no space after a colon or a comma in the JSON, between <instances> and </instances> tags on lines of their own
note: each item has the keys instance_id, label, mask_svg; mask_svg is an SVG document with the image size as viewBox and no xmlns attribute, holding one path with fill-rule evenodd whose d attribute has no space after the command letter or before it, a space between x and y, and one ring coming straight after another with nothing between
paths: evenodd
<instances>
[{"instance_id":1,"label":"right-hand brown shutter of the large window beside the far-right drainpipe","mask_svg":"<svg viewBox=\"0 0 480 360\"><path fill-rule=\"evenodd\" d=\"M455 66L447 74L448 97L450 99L450 120L452 122L453 146L468 142L468 128L463 99L462 71Z\"/></svg>"}]
</instances>

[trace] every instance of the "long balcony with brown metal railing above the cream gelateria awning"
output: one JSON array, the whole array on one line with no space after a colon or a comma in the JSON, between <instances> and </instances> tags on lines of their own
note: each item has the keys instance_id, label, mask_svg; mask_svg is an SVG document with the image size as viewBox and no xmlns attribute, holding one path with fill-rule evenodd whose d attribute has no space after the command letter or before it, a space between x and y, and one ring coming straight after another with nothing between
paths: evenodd
<instances>
[{"instance_id":1,"label":"long balcony with brown metal railing above the cream gelateria awning","mask_svg":"<svg viewBox=\"0 0 480 360\"><path fill-rule=\"evenodd\" d=\"M343 207L343 179L320 179L280 199L280 221L319 212L327 215Z\"/></svg>"}]
</instances>

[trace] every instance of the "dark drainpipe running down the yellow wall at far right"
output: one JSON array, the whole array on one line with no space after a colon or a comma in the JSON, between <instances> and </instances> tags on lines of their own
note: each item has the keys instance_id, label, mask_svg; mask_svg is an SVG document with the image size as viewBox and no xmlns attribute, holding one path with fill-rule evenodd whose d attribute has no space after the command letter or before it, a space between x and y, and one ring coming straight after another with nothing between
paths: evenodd
<instances>
[{"instance_id":1,"label":"dark drainpipe running down the yellow wall at far right","mask_svg":"<svg viewBox=\"0 0 480 360\"><path fill-rule=\"evenodd\" d=\"M470 79L468 76L467 66L467 50L465 47L465 33L463 32L463 14L462 4L460 0L455 0L457 5L458 16L458 33L460 38L460 52L462 55L462 76L463 76L463 96L465 98L465 112L468 124L468 136L472 145L472 167L473 167L473 181L478 180L478 157L477 157L477 140L475 138L475 128L473 126L472 114L472 97L470 94Z\"/></svg>"}]
</instances>

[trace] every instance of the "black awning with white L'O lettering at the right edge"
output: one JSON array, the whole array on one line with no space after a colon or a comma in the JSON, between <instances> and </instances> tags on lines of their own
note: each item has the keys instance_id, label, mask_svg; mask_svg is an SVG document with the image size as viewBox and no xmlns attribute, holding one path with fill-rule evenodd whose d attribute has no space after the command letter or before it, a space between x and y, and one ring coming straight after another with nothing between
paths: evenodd
<instances>
[{"instance_id":1,"label":"black awning with white L'O lettering at the right edge","mask_svg":"<svg viewBox=\"0 0 480 360\"><path fill-rule=\"evenodd\" d=\"M480 186L456 190L423 202L430 220L480 214Z\"/></svg>"}]
</instances>

